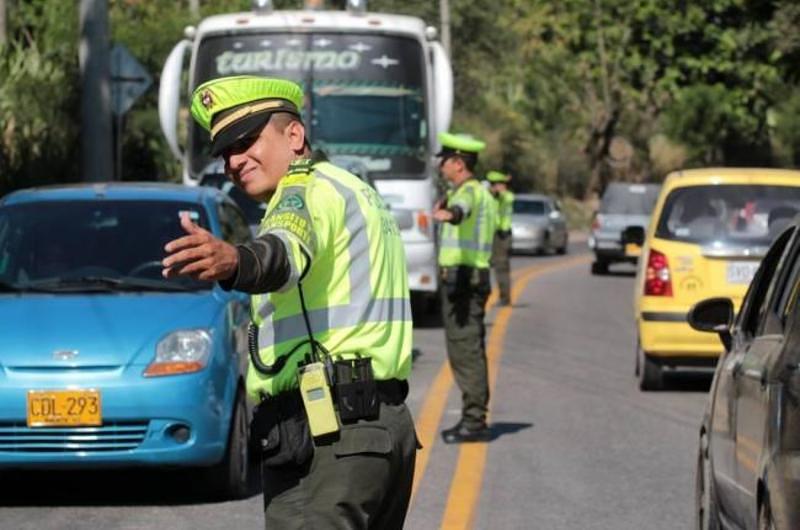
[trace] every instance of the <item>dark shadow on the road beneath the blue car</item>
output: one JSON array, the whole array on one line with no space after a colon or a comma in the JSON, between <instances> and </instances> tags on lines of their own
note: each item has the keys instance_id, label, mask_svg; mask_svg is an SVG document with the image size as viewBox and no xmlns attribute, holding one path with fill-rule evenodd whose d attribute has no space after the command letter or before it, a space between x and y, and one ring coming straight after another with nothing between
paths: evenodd
<instances>
[{"instance_id":1,"label":"dark shadow on the road beneath the blue car","mask_svg":"<svg viewBox=\"0 0 800 530\"><path fill-rule=\"evenodd\" d=\"M0 506L178 506L221 502L196 471L12 470L0 476ZM258 484L255 484L258 482ZM254 480L251 496L261 495Z\"/></svg>"}]
</instances>

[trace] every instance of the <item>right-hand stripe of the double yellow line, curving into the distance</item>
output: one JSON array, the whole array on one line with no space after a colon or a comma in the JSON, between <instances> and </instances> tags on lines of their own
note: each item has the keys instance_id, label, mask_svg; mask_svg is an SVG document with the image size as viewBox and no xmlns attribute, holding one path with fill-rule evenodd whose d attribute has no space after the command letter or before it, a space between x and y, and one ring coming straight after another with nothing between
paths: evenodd
<instances>
[{"instance_id":1,"label":"right-hand stripe of the double yellow line, curving into the distance","mask_svg":"<svg viewBox=\"0 0 800 530\"><path fill-rule=\"evenodd\" d=\"M511 299L516 301L531 280L548 272L561 270L587 261L589 261L589 257L584 255L559 261L546 267L536 267L533 270L528 270L514 283ZM486 356L489 361L489 395L494 393L497 366L503 356L503 339L505 338L511 314L512 307L501 308L497 313L489 336L489 343L486 348ZM441 528L449 530L472 527L472 519L475 515L475 508L478 505L478 496L481 482L483 481L487 449L488 445L486 443L467 443L461 444L459 447L458 463L450 483L450 494L447 497Z\"/></svg>"}]
</instances>

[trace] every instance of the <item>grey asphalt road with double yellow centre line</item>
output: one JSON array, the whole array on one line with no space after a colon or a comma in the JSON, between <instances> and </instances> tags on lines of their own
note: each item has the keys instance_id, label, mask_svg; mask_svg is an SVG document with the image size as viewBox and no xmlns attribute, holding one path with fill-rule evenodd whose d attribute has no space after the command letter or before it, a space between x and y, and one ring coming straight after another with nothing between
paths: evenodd
<instances>
[{"instance_id":1,"label":"grey asphalt road with double yellow centre line","mask_svg":"<svg viewBox=\"0 0 800 530\"><path fill-rule=\"evenodd\" d=\"M457 421L460 397L443 369L437 319L417 319L409 403L426 448L407 528L690 527L709 378L682 374L667 391L639 392L632 269L590 276L583 252L513 260L516 303L489 315L488 444L439 439ZM220 503L197 490L191 474L5 474L0 528L262 527L259 496Z\"/></svg>"}]
</instances>

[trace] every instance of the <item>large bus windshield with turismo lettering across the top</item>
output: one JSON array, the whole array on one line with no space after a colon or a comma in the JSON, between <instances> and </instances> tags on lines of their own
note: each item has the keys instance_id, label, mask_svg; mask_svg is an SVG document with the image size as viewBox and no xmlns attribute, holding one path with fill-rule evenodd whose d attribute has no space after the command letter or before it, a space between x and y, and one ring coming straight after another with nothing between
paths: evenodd
<instances>
[{"instance_id":1,"label":"large bus windshield with turismo lettering across the top","mask_svg":"<svg viewBox=\"0 0 800 530\"><path fill-rule=\"evenodd\" d=\"M411 38L343 33L250 33L200 43L194 86L228 75L289 78L315 148L355 158L370 177L425 178L428 126L422 46ZM191 170L211 162L207 133L190 126Z\"/></svg>"}]
</instances>

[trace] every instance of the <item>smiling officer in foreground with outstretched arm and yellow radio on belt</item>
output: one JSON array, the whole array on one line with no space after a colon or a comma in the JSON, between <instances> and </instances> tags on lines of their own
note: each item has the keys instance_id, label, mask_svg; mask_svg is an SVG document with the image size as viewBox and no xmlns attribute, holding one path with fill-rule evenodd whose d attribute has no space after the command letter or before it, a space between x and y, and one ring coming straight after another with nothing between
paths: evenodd
<instances>
[{"instance_id":1,"label":"smiling officer in foreground with outstretched arm and yellow radio on belt","mask_svg":"<svg viewBox=\"0 0 800 530\"><path fill-rule=\"evenodd\" d=\"M372 187L310 158L302 108L300 87L280 79L194 91L212 154L267 208L258 237L238 247L184 217L164 275L252 294L246 389L266 527L401 528L416 451L403 245Z\"/></svg>"}]
</instances>

